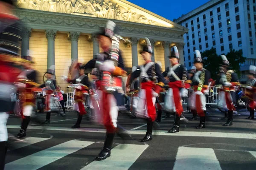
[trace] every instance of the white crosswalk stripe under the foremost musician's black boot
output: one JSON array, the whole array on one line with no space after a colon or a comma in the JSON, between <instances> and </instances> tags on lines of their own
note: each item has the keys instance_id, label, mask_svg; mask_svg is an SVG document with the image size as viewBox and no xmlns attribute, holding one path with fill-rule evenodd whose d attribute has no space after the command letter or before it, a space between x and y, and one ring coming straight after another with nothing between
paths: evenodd
<instances>
[{"instance_id":1,"label":"white crosswalk stripe under the foremost musician's black boot","mask_svg":"<svg viewBox=\"0 0 256 170\"><path fill-rule=\"evenodd\" d=\"M93 161L81 170L128 170L148 145L119 144L111 150L111 157Z\"/></svg>"}]
</instances>

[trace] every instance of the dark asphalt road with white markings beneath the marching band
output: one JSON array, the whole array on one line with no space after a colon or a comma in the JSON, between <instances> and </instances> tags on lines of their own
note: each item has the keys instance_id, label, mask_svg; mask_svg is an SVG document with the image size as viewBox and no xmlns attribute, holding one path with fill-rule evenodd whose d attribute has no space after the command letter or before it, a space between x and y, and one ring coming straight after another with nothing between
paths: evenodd
<instances>
[{"instance_id":1,"label":"dark asphalt road with white markings beneath the marching band","mask_svg":"<svg viewBox=\"0 0 256 170\"><path fill-rule=\"evenodd\" d=\"M181 122L179 133L166 133L173 117L162 119L153 140L139 142L145 134L145 120L129 119L119 114L119 125L131 133L133 139L114 139L111 157L95 161L105 139L102 125L83 119L81 128L71 129L76 113L65 118L52 113L51 124L31 122L27 137L14 136L20 118L8 120L9 151L6 170L255 170L256 120L245 119L248 112L234 116L233 126L224 127L222 113L209 109L204 129L195 129L197 121ZM164 115L164 113L163 113ZM191 117L190 113L184 116ZM45 114L37 119L43 121Z\"/></svg>"}]
</instances>

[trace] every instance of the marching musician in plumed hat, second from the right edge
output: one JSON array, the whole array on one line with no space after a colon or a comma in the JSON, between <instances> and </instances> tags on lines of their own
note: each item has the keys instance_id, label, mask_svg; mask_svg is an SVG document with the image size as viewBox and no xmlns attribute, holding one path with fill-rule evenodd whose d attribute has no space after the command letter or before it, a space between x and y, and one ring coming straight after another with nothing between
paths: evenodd
<instances>
[{"instance_id":1,"label":"marching musician in plumed hat, second from the right edge","mask_svg":"<svg viewBox=\"0 0 256 170\"><path fill-rule=\"evenodd\" d=\"M223 126L232 126L233 125L233 111L236 111L233 103L236 102L236 92L235 86L239 84L239 79L234 70L227 70L229 67L229 62L227 57L221 55L223 60L222 69L224 74L221 74L220 84L223 87L223 91L220 93L220 103L222 108L227 108L227 122Z\"/></svg>"}]
</instances>

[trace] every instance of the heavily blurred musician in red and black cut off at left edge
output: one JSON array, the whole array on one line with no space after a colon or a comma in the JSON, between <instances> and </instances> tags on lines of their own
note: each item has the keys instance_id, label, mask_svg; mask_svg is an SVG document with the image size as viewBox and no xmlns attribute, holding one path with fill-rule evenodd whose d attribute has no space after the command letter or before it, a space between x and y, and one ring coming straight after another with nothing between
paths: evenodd
<instances>
[{"instance_id":1,"label":"heavily blurred musician in red and black cut off at left edge","mask_svg":"<svg viewBox=\"0 0 256 170\"><path fill-rule=\"evenodd\" d=\"M20 57L22 26L14 7L12 0L0 0L0 170L4 169L7 152L6 122L13 111L11 94L16 93L14 82L21 72L15 62Z\"/></svg>"}]
</instances>

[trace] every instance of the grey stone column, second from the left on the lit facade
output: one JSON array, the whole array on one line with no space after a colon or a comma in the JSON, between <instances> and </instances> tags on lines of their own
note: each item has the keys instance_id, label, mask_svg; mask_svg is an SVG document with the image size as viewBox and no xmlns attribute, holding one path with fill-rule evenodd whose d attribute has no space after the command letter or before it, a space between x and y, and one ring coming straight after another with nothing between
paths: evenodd
<instances>
[{"instance_id":1,"label":"grey stone column, second from the left on the lit facade","mask_svg":"<svg viewBox=\"0 0 256 170\"><path fill-rule=\"evenodd\" d=\"M57 31L55 30L46 30L46 38L47 38L47 69L51 65L55 65L55 48L54 41Z\"/></svg>"}]
</instances>

